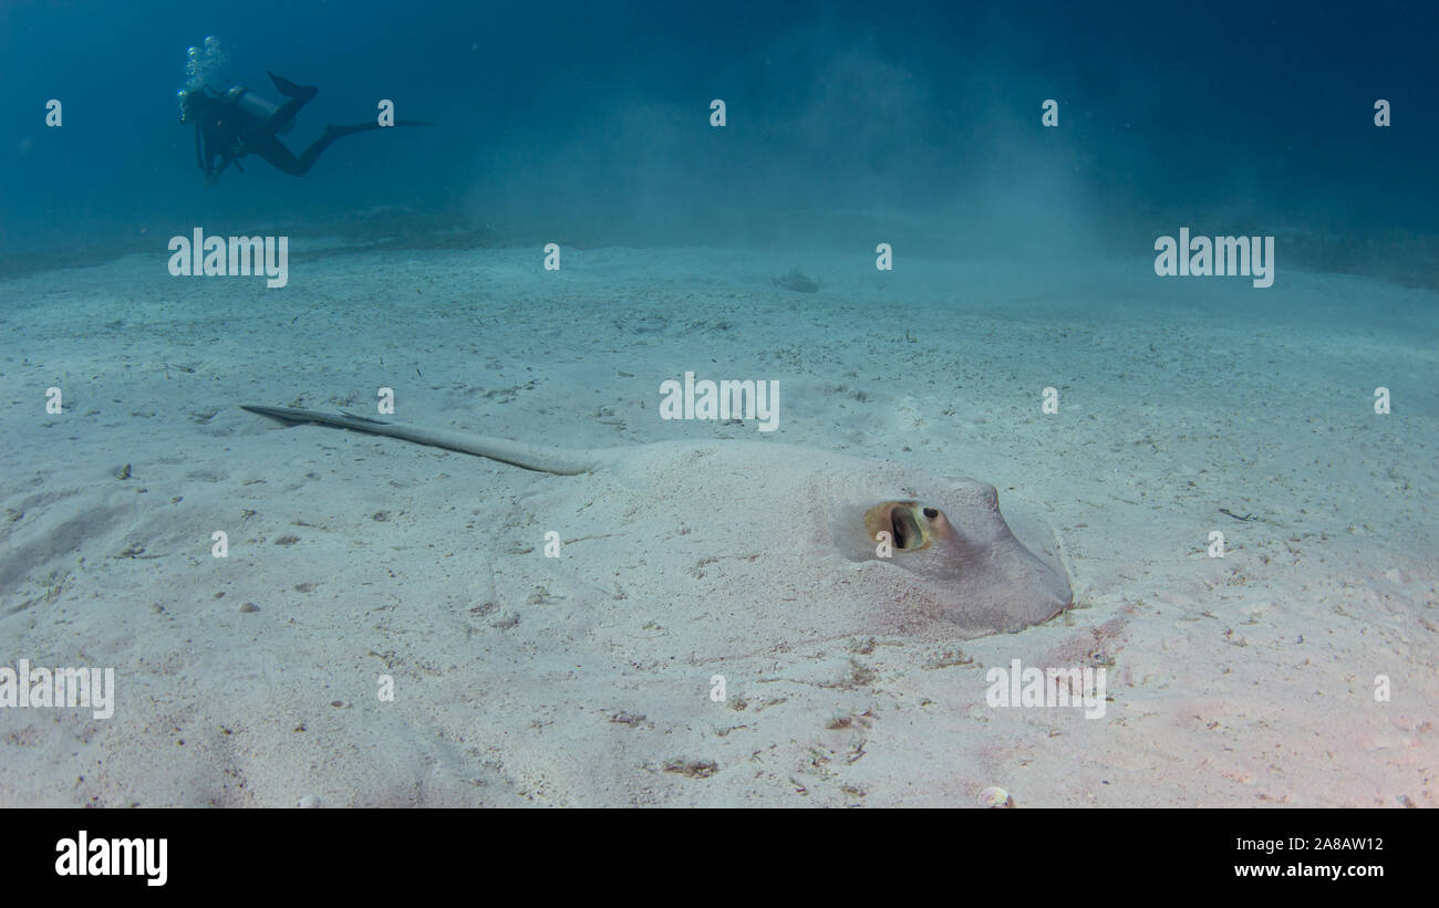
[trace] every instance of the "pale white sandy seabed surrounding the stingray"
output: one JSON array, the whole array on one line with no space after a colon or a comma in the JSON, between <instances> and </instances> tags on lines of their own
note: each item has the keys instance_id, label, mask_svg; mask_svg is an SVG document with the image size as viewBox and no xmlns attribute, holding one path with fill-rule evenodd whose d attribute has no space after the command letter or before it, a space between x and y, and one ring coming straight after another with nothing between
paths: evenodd
<instances>
[{"instance_id":1,"label":"pale white sandy seabed surrounding the stingray","mask_svg":"<svg viewBox=\"0 0 1439 908\"><path fill-rule=\"evenodd\" d=\"M141 256L0 284L0 665L114 667L118 688L108 720L0 710L0 805L973 806L997 784L1019 806L1439 806L1435 293L1144 260L540 263L334 254L266 290ZM819 293L771 286L796 263ZM661 421L686 369L777 379L780 430ZM763 557L728 586L646 559L684 501L545 559L547 529L590 533L554 514L645 490L236 407L373 411L381 385L436 427L786 441L987 480L1046 504L1079 608L976 641L728 652L663 596L832 603L771 601ZM745 481L714 477L717 500ZM653 615L633 648L600 622L617 595ZM991 710L986 670L1012 658L1108 667L1107 715Z\"/></svg>"}]
</instances>

